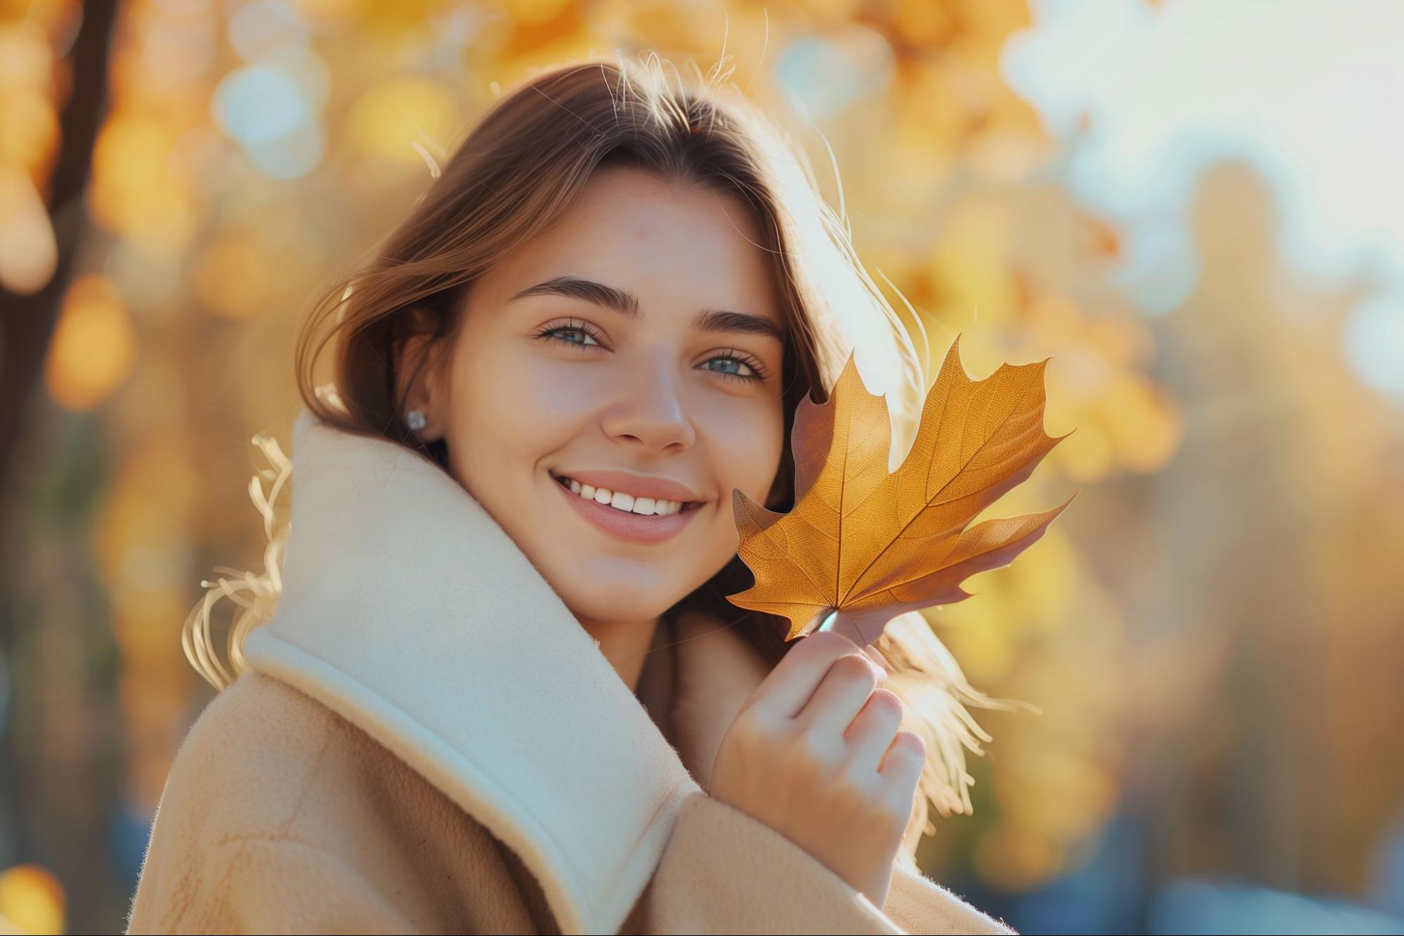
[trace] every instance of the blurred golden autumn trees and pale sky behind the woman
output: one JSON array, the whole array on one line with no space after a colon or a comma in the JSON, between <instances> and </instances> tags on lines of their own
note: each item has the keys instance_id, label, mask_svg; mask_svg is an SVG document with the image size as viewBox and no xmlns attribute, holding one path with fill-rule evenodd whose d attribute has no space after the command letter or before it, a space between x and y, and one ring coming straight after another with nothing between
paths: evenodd
<instances>
[{"instance_id":1,"label":"blurred golden autumn trees and pale sky behind the woman","mask_svg":"<svg viewBox=\"0 0 1404 936\"><path fill-rule=\"evenodd\" d=\"M1404 932L1401 48L1390 0L0 0L0 928L124 926L314 289L503 88L656 51L795 128L932 368L1050 356L1077 429L929 613L1042 714L980 713L925 870L1021 932Z\"/></svg>"}]
</instances>

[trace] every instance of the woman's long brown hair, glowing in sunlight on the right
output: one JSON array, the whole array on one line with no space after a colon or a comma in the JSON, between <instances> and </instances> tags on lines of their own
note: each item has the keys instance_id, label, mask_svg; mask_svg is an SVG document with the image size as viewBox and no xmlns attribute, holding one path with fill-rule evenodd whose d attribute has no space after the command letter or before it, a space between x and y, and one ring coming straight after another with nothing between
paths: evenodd
<instances>
[{"instance_id":1,"label":"woman's long brown hair, glowing in sunlight on the right","mask_svg":"<svg viewBox=\"0 0 1404 936\"><path fill-rule=\"evenodd\" d=\"M402 342L416 328L427 328L432 341L449 340L462 320L466 290L497 258L559 219L591 173L628 167L733 195L757 222L788 333L783 455L767 507L781 512L793 507L795 410L806 396L817 403L827 399L849 349L861 359L866 354L893 380L889 406L910 425L927 383L906 328L854 254L847 225L819 195L803 150L744 97L726 94L723 77L713 73L688 90L681 80L670 84L657 65L580 62L543 72L498 98L409 216L313 307L296 347L298 387L307 408L337 429L404 445L446 470L445 443L421 442L403 422L397 397L409 382L396 373ZM313 376L329 349L330 393ZM281 452L272 453L275 443L256 442L271 460L282 459ZM270 501L286 480L285 459L282 467L274 494L264 498L260 488L256 495L265 521ZM211 585L187 622L187 655L216 688L244 668L243 634L267 619L277 599L281 542L274 542L271 526L268 537L268 573ZM703 609L739 623L746 640L774 665L788 648L785 619L726 599L753 582L734 556L664 617ZM253 591L256 601L234 595L240 589ZM220 594L246 610L229 634L234 674L211 653L209 605ZM876 648L892 665L886 686L907 707L904 727L928 744L921 793L942 815L970 813L973 780L962 748L983 754L979 740L990 737L965 706L1009 706L965 682L921 615L894 619ZM925 821L922 797L918 801L920 825L931 834L935 828Z\"/></svg>"}]
</instances>

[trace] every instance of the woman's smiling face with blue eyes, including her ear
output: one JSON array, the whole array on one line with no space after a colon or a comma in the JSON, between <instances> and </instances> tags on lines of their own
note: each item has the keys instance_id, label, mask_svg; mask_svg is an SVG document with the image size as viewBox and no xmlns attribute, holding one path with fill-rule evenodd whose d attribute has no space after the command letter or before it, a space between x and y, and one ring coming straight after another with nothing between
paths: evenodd
<instances>
[{"instance_id":1,"label":"woman's smiling face with blue eyes, including her ear","mask_svg":"<svg viewBox=\"0 0 1404 936\"><path fill-rule=\"evenodd\" d=\"M437 349L421 438L583 619L657 617L736 553L731 488L771 490L785 324L758 240L733 195L600 171ZM660 483L694 504L647 514Z\"/></svg>"}]
</instances>

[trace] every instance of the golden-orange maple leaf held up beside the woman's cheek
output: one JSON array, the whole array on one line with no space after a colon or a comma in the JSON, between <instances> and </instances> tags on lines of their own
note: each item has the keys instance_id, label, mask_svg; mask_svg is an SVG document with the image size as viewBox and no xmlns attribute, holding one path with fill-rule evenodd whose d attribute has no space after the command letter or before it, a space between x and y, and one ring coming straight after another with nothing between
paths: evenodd
<instances>
[{"instance_id":1,"label":"golden-orange maple leaf held up beside the woman's cheek","mask_svg":"<svg viewBox=\"0 0 1404 936\"><path fill-rule=\"evenodd\" d=\"M1009 564L1043 535L1075 493L1043 514L966 528L1071 435L1043 432L1049 359L972 382L959 345L956 335L893 473L886 400L863 386L852 354L826 403L800 401L795 509L776 514L731 491L737 551L755 585L727 601L788 617L786 640L823 624L868 644L903 612L970 598L962 581Z\"/></svg>"}]
</instances>

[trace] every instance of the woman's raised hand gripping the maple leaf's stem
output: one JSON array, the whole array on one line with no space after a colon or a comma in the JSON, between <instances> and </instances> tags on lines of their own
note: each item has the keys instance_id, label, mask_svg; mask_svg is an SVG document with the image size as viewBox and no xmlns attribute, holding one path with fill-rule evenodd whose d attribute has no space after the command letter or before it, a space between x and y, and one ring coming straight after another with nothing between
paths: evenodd
<instances>
[{"instance_id":1,"label":"woman's raised hand gripping the maple leaf's stem","mask_svg":"<svg viewBox=\"0 0 1404 936\"><path fill-rule=\"evenodd\" d=\"M722 737L712 798L760 820L879 909L927 759L887 671L835 633L803 637Z\"/></svg>"}]
</instances>

